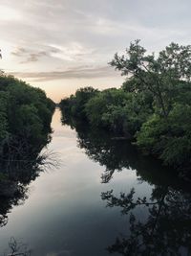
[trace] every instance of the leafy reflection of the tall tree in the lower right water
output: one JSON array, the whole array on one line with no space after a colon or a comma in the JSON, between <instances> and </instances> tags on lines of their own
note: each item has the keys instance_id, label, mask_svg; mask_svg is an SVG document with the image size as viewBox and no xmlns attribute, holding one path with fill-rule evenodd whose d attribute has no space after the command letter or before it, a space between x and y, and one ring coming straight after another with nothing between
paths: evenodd
<instances>
[{"instance_id":1,"label":"leafy reflection of the tall tree in the lower right water","mask_svg":"<svg viewBox=\"0 0 191 256\"><path fill-rule=\"evenodd\" d=\"M113 191L102 193L107 206L120 208L129 216L130 233L118 236L108 247L110 253L121 255L191 255L190 193L171 187L156 186L150 198L136 198L136 191L115 196ZM147 216L138 219L135 210Z\"/></svg>"}]
</instances>

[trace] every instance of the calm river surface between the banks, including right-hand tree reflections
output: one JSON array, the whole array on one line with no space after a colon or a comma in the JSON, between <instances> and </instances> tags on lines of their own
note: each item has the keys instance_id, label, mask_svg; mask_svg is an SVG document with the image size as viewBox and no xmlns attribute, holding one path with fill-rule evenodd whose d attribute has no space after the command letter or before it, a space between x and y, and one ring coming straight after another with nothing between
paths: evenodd
<instances>
[{"instance_id":1,"label":"calm river surface between the banks, including right-hand tree reflections","mask_svg":"<svg viewBox=\"0 0 191 256\"><path fill-rule=\"evenodd\" d=\"M59 168L0 197L0 255L11 237L34 256L191 255L189 184L127 141L62 126L58 110L53 129Z\"/></svg>"}]
</instances>

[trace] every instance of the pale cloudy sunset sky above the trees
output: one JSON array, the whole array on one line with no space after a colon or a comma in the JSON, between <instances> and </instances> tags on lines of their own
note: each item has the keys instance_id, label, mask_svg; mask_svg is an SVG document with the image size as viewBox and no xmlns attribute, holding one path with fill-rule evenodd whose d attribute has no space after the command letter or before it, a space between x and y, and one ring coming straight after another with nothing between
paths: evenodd
<instances>
[{"instance_id":1,"label":"pale cloudy sunset sky above the trees","mask_svg":"<svg viewBox=\"0 0 191 256\"><path fill-rule=\"evenodd\" d=\"M190 0L0 0L0 69L54 102L79 87L119 87L116 52L190 44Z\"/></svg>"}]
</instances>

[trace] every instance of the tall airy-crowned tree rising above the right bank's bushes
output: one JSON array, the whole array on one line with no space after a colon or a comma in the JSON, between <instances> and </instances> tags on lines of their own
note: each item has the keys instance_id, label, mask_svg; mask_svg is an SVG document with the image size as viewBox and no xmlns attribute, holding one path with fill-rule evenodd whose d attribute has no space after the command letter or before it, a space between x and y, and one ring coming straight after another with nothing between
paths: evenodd
<instances>
[{"instance_id":1,"label":"tall airy-crowned tree rising above the right bank's bushes","mask_svg":"<svg viewBox=\"0 0 191 256\"><path fill-rule=\"evenodd\" d=\"M126 55L116 54L110 65L128 80L136 79L135 92L150 91L160 115L167 118L180 81L191 79L191 45L171 43L156 58L155 54L146 55L146 50L136 40L126 49Z\"/></svg>"}]
</instances>

